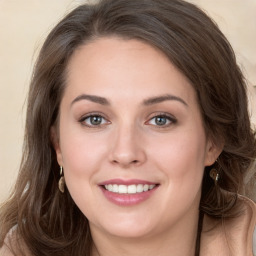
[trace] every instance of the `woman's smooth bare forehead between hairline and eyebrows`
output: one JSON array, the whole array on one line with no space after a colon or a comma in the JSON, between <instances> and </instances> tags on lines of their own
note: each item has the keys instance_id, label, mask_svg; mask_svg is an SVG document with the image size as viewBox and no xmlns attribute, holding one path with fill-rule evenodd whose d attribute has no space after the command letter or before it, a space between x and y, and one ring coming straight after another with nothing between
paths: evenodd
<instances>
[{"instance_id":1,"label":"woman's smooth bare forehead between hairline and eyebrows","mask_svg":"<svg viewBox=\"0 0 256 256\"><path fill-rule=\"evenodd\" d=\"M80 46L68 65L67 91L108 97L120 93L143 95L173 93L185 100L193 87L158 49L139 40L101 38ZM73 95L75 97L76 95Z\"/></svg>"}]
</instances>

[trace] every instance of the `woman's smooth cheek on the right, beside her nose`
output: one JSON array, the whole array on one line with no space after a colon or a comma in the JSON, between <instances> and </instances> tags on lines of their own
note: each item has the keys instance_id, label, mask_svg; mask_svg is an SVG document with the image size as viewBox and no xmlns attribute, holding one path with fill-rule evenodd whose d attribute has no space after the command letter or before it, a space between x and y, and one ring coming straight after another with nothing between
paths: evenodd
<instances>
[{"instance_id":1,"label":"woman's smooth cheek on the right, beside her nose","mask_svg":"<svg viewBox=\"0 0 256 256\"><path fill-rule=\"evenodd\" d=\"M201 129L188 129L163 139L151 151L154 161L167 176L171 188L200 187L204 171L206 140Z\"/></svg>"}]
</instances>

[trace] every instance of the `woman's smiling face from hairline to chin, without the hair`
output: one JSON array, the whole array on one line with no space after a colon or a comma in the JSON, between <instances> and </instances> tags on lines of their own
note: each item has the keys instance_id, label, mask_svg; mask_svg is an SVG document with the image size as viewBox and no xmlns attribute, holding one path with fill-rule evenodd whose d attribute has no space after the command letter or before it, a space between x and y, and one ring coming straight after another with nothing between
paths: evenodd
<instances>
[{"instance_id":1,"label":"woman's smiling face from hairline to chin, without the hair","mask_svg":"<svg viewBox=\"0 0 256 256\"><path fill-rule=\"evenodd\" d=\"M92 232L152 236L197 218L218 150L193 87L160 51L117 38L77 49L59 122L58 162Z\"/></svg>"}]
</instances>

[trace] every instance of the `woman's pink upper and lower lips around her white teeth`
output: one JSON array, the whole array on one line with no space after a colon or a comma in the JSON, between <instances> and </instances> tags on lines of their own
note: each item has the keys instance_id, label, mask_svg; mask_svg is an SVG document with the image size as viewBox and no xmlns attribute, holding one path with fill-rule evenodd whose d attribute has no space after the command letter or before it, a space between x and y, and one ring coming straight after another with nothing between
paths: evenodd
<instances>
[{"instance_id":1,"label":"woman's pink upper and lower lips around her white teeth","mask_svg":"<svg viewBox=\"0 0 256 256\"><path fill-rule=\"evenodd\" d=\"M114 179L114 180L108 180L105 182L102 182L99 184L99 187L101 191L103 192L103 195L112 203L119 205L119 206L133 206L137 205L139 203L142 203L149 199L156 191L159 186L156 186L155 188L148 190L146 192L136 193L136 194L119 194L114 193L106 190L104 188L104 185L107 184L117 184L117 185L132 185L132 184L148 184L148 185L154 185L156 183L143 181L143 180L120 180L120 179Z\"/></svg>"}]
</instances>

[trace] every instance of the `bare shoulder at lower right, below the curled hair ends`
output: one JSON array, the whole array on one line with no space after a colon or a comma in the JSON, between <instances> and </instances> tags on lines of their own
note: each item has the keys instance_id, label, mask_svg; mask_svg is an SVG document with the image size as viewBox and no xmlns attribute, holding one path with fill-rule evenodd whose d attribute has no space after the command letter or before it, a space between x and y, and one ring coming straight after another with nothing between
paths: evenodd
<instances>
[{"instance_id":1,"label":"bare shoulder at lower right, below the curled hair ends","mask_svg":"<svg viewBox=\"0 0 256 256\"><path fill-rule=\"evenodd\" d=\"M214 219L205 216L202 246L203 255L253 256L256 204L244 196L238 196L239 215L234 218ZM215 254L216 253L216 254Z\"/></svg>"}]
</instances>

